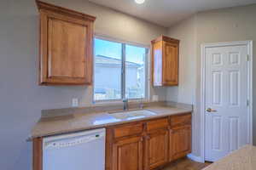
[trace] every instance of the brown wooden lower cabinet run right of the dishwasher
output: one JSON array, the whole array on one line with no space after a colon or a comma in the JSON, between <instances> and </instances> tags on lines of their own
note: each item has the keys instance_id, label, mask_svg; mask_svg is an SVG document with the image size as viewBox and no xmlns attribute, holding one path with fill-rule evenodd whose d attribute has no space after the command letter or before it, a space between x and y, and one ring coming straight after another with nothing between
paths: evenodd
<instances>
[{"instance_id":1,"label":"brown wooden lower cabinet run right of the dishwasher","mask_svg":"<svg viewBox=\"0 0 256 170\"><path fill-rule=\"evenodd\" d=\"M153 170L191 151L191 114L107 128L106 170Z\"/></svg>"}]
</instances>

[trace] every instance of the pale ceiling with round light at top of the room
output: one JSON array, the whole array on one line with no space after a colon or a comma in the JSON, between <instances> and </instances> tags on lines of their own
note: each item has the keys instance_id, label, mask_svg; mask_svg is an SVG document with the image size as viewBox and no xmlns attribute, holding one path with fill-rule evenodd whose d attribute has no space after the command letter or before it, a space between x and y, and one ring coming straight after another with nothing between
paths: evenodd
<instances>
[{"instance_id":1,"label":"pale ceiling with round light at top of the room","mask_svg":"<svg viewBox=\"0 0 256 170\"><path fill-rule=\"evenodd\" d=\"M89 1L165 27L199 11L256 3L256 0L145 0L143 4L134 0Z\"/></svg>"}]
</instances>

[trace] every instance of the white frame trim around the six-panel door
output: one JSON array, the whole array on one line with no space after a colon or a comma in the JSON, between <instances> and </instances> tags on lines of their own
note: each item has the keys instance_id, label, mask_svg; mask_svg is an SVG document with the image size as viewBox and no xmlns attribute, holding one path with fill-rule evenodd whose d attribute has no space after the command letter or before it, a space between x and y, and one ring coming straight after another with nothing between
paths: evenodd
<instances>
[{"instance_id":1,"label":"white frame trim around the six-panel door","mask_svg":"<svg viewBox=\"0 0 256 170\"><path fill-rule=\"evenodd\" d=\"M211 42L201 44L201 95L200 95L200 116L201 116L201 162L205 162L205 81L206 81L206 51L207 48L213 47L228 47L246 45L248 54L248 65L247 65L247 99L249 101L247 112L248 112L248 136L247 141L249 144L253 144L253 41L239 41L239 42Z\"/></svg>"}]
</instances>

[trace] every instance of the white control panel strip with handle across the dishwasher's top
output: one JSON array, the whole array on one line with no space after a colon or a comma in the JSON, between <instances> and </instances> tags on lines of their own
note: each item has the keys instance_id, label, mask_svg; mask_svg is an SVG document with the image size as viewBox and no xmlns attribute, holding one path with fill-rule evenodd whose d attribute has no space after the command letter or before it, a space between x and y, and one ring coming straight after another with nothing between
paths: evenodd
<instances>
[{"instance_id":1,"label":"white control panel strip with handle across the dishwasher's top","mask_svg":"<svg viewBox=\"0 0 256 170\"><path fill-rule=\"evenodd\" d=\"M73 137L71 139L58 139L44 142L44 150L71 147L79 144L86 144L91 141L105 138L105 133L95 133L84 136Z\"/></svg>"}]
</instances>

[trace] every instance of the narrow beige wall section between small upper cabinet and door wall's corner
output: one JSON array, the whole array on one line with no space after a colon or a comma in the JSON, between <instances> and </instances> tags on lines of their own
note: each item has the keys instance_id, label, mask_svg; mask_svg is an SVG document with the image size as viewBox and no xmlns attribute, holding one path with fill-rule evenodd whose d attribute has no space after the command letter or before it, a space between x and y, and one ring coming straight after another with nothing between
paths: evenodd
<instances>
[{"instance_id":1,"label":"narrow beige wall section between small upper cabinet and door wall's corner","mask_svg":"<svg viewBox=\"0 0 256 170\"><path fill-rule=\"evenodd\" d=\"M178 71L178 86L167 88L166 99L178 103L195 105L195 81L196 81L196 27L195 16L183 20L176 26L173 26L168 31L168 36L177 38L180 41L180 54L179 54L179 71ZM192 117L192 132L200 130L200 126L196 123L198 114L196 111ZM192 151L199 150L198 143L200 140L196 135L192 136Z\"/></svg>"}]
</instances>

